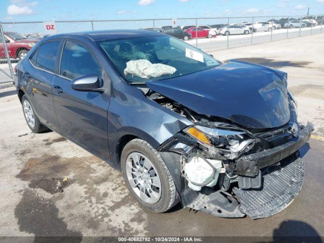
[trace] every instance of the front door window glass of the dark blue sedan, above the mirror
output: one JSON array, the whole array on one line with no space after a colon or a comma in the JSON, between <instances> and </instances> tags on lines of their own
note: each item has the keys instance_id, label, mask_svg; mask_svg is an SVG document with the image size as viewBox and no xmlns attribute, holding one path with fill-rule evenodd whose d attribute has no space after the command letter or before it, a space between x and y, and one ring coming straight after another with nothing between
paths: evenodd
<instances>
[{"instance_id":1,"label":"front door window glass of the dark blue sedan, above the mirror","mask_svg":"<svg viewBox=\"0 0 324 243\"><path fill-rule=\"evenodd\" d=\"M73 79L86 74L97 74L101 79L101 67L82 45L67 41L62 53L60 74Z\"/></svg>"}]
</instances>

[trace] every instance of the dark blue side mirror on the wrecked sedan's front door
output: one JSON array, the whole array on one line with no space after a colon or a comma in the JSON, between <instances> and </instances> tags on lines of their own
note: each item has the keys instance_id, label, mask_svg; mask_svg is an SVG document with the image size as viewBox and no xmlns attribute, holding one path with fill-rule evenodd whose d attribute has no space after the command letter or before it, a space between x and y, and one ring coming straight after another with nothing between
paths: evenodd
<instances>
[{"instance_id":1,"label":"dark blue side mirror on the wrecked sedan's front door","mask_svg":"<svg viewBox=\"0 0 324 243\"><path fill-rule=\"evenodd\" d=\"M87 74L74 78L71 82L71 88L77 91L101 92L106 90L102 88L97 74Z\"/></svg>"}]
</instances>

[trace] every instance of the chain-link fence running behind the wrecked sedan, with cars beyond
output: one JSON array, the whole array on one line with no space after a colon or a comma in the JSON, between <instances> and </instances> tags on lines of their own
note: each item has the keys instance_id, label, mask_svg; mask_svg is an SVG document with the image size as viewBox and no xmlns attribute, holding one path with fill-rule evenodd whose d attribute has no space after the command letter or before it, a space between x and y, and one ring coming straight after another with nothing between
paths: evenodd
<instances>
[{"instance_id":1,"label":"chain-link fence running behind the wrecked sedan, with cars beyond","mask_svg":"<svg viewBox=\"0 0 324 243\"><path fill-rule=\"evenodd\" d=\"M105 29L146 29L163 32L205 52L278 41L324 32L324 15L219 17L53 22L55 33ZM45 22L0 23L0 84L12 82L17 61L46 37ZM53 32L53 31L52 31Z\"/></svg>"}]
</instances>

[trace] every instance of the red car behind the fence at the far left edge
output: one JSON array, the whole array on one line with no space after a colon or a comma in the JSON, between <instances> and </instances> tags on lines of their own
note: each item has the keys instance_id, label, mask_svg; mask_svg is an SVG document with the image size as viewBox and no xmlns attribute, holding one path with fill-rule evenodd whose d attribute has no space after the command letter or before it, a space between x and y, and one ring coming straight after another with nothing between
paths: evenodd
<instances>
[{"instance_id":1,"label":"red car behind the fence at the far left edge","mask_svg":"<svg viewBox=\"0 0 324 243\"><path fill-rule=\"evenodd\" d=\"M5 32L6 45L10 58L23 59L39 39L29 39L17 32ZM0 42L0 58L5 58L4 44Z\"/></svg>"}]
</instances>

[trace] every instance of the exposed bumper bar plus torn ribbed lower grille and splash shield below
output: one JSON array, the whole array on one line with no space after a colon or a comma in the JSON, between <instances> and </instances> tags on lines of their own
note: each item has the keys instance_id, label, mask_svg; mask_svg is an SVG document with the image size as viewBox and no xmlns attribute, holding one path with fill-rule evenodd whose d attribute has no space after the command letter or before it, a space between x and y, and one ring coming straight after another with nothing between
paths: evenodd
<instances>
[{"instance_id":1,"label":"exposed bumper bar plus torn ribbed lower grille and splash shield below","mask_svg":"<svg viewBox=\"0 0 324 243\"><path fill-rule=\"evenodd\" d=\"M238 186L232 188L232 193L208 187L199 192L186 190L187 193L182 194L182 203L185 207L226 218L247 215L259 219L284 210L303 185L304 161L299 157L298 150L307 142L312 131L313 125L308 123L293 140L237 159L234 173L239 175ZM260 187L240 188L239 178L258 178Z\"/></svg>"}]
</instances>

